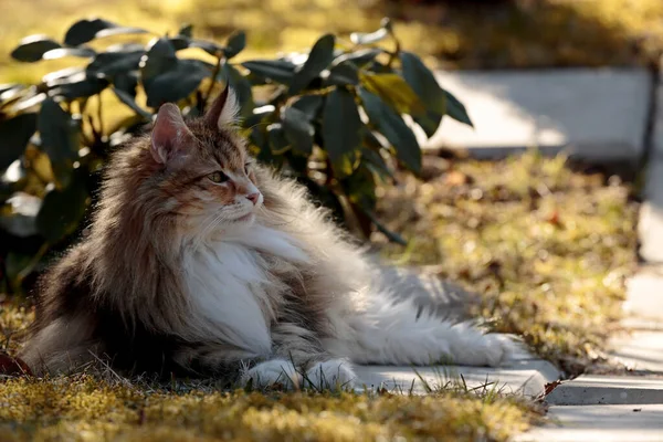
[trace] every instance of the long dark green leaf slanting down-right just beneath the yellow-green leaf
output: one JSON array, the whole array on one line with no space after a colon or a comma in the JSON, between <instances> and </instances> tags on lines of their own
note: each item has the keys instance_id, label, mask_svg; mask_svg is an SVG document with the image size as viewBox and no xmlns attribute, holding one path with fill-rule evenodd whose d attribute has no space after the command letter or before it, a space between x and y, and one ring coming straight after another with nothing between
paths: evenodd
<instances>
[{"instance_id":1,"label":"long dark green leaf slanting down-right just beneath the yellow-green leaf","mask_svg":"<svg viewBox=\"0 0 663 442\"><path fill-rule=\"evenodd\" d=\"M359 96L370 122L391 143L396 157L414 173L421 171L421 148L406 122L382 99L359 87Z\"/></svg>"}]
</instances>

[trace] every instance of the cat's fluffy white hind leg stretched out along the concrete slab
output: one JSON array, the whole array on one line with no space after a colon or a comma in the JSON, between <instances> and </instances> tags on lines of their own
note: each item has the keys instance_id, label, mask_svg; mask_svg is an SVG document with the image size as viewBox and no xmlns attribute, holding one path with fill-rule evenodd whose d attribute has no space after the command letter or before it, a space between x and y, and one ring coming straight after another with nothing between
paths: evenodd
<instances>
[{"instance_id":1,"label":"cat's fluffy white hind leg stretched out along the concrete slab","mask_svg":"<svg viewBox=\"0 0 663 442\"><path fill-rule=\"evenodd\" d=\"M394 287L394 286L392 286ZM394 288L402 288L394 287ZM498 366L516 350L512 338L484 334L470 320L443 318L393 288L378 286L354 312L333 315L327 350L356 364Z\"/></svg>"}]
</instances>

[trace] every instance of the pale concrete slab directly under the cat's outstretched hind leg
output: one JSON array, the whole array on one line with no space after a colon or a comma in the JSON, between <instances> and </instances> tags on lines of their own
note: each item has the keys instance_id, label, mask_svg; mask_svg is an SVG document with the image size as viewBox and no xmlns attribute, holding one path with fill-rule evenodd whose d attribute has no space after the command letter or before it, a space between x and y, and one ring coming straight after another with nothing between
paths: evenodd
<instances>
[{"instance_id":1,"label":"pale concrete slab directly under the cat's outstretched hind leg","mask_svg":"<svg viewBox=\"0 0 663 442\"><path fill-rule=\"evenodd\" d=\"M546 383L559 378L559 371L550 362L539 359L517 360L507 368L359 366L355 371L359 379L358 385L367 389L383 387L389 391L411 391L414 394L427 393L427 385L435 389L446 386L448 382L462 383L462 375L467 388L483 388L482 386L490 383L487 390L496 386L497 390L505 393L536 397L544 391Z\"/></svg>"}]
</instances>

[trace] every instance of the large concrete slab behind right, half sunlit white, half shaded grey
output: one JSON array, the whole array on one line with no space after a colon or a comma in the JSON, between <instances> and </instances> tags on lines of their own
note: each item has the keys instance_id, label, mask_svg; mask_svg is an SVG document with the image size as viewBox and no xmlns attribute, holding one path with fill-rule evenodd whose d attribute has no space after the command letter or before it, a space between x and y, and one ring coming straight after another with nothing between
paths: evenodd
<instances>
[{"instance_id":1,"label":"large concrete slab behind right, half sunlit white, half shaded grey","mask_svg":"<svg viewBox=\"0 0 663 442\"><path fill-rule=\"evenodd\" d=\"M475 129L445 117L425 147L568 147L590 160L635 160L643 149L651 78L645 70L440 72ZM496 149L496 150L495 150Z\"/></svg>"}]
</instances>

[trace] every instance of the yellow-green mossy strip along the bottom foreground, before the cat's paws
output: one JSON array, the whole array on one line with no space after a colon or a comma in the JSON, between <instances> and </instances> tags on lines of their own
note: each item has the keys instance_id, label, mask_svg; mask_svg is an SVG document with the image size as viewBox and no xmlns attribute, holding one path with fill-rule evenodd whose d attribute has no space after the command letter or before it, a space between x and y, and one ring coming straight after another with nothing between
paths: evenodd
<instances>
[{"instance_id":1,"label":"yellow-green mossy strip along the bottom foreground, before the cat's paws","mask_svg":"<svg viewBox=\"0 0 663 442\"><path fill-rule=\"evenodd\" d=\"M186 386L185 386L186 387ZM506 440L537 413L523 401L457 391L171 391L88 376L13 379L0 389L0 440Z\"/></svg>"}]
</instances>

